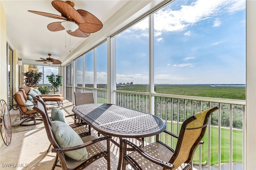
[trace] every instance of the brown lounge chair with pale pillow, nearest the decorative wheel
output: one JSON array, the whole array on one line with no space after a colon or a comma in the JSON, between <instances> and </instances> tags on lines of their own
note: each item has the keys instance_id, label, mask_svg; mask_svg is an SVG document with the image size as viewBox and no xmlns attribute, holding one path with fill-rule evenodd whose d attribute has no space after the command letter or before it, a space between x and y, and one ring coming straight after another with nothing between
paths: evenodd
<instances>
[{"instance_id":1,"label":"brown lounge chair with pale pillow, nearest the decorative wheel","mask_svg":"<svg viewBox=\"0 0 256 170\"><path fill-rule=\"evenodd\" d=\"M42 118L39 117L37 111L33 110L34 103L32 101L26 100L21 91L17 91L13 95L13 99L20 110L20 126L33 126L43 123ZM31 123L32 121L32 123Z\"/></svg>"}]
</instances>

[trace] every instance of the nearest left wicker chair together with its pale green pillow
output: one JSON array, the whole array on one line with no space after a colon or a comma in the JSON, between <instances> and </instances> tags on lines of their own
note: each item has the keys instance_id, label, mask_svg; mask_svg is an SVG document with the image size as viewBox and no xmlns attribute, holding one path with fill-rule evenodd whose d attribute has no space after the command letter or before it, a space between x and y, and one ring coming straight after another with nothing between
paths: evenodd
<instances>
[{"instance_id":1,"label":"nearest left wicker chair together with its pale green pillow","mask_svg":"<svg viewBox=\"0 0 256 170\"><path fill-rule=\"evenodd\" d=\"M44 105L40 101L33 109L42 115L48 140L53 146L52 152L56 152L52 170L56 166L63 170L84 169L102 157L106 158L108 170L110 170L110 136L95 138L88 135L80 138L65 123L61 121L50 122L46 116ZM106 142L106 147L101 144L102 141Z\"/></svg>"}]
</instances>

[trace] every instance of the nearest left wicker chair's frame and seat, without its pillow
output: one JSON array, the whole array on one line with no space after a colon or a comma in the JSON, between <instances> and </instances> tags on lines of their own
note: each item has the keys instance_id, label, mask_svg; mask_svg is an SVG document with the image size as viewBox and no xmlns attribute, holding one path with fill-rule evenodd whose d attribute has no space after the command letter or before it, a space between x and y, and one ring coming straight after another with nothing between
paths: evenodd
<instances>
[{"instance_id":1,"label":"nearest left wicker chair's frame and seat, without its pillow","mask_svg":"<svg viewBox=\"0 0 256 170\"><path fill-rule=\"evenodd\" d=\"M38 99L37 99L38 101ZM61 167L63 170L78 170L86 168L92 162L104 157L107 160L108 170L110 170L110 136L105 136L102 138L95 138L94 136L84 136L82 140L84 144L73 146L69 148L61 148L55 140L54 133L52 131L52 125L49 119L47 118L46 109L44 105L38 101L37 106L33 108L35 111L42 115L44 121L44 127L46 129L46 134L50 143L52 144L52 152L56 152L56 157L52 170L57 167ZM101 144L101 141L106 141L107 147L104 147ZM67 156L65 153L72 150L79 150L81 148L86 148L88 152L88 159L86 160L74 160ZM60 164L58 164L60 162Z\"/></svg>"}]
</instances>

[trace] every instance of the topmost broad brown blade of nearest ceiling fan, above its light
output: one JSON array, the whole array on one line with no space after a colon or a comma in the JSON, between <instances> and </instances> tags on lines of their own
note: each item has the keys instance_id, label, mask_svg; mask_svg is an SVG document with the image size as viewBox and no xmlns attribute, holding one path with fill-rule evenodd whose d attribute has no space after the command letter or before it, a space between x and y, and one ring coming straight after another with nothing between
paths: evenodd
<instances>
[{"instance_id":1,"label":"topmost broad brown blade of nearest ceiling fan, above its light","mask_svg":"<svg viewBox=\"0 0 256 170\"><path fill-rule=\"evenodd\" d=\"M53 0L52 6L68 20L72 20L77 23L84 23L84 18L80 15L80 13L67 2L61 0Z\"/></svg>"}]
</instances>

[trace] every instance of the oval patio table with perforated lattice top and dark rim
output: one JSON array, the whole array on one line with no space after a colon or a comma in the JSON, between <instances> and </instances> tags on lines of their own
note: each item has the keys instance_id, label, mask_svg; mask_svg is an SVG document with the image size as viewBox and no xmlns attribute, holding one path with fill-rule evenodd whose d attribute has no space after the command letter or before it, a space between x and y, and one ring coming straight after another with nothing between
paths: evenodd
<instances>
[{"instance_id":1,"label":"oval patio table with perforated lattice top and dark rim","mask_svg":"<svg viewBox=\"0 0 256 170\"><path fill-rule=\"evenodd\" d=\"M122 165L122 138L154 136L166 128L164 121L155 115L113 104L79 105L72 111L98 132L120 139L118 170Z\"/></svg>"}]
</instances>

